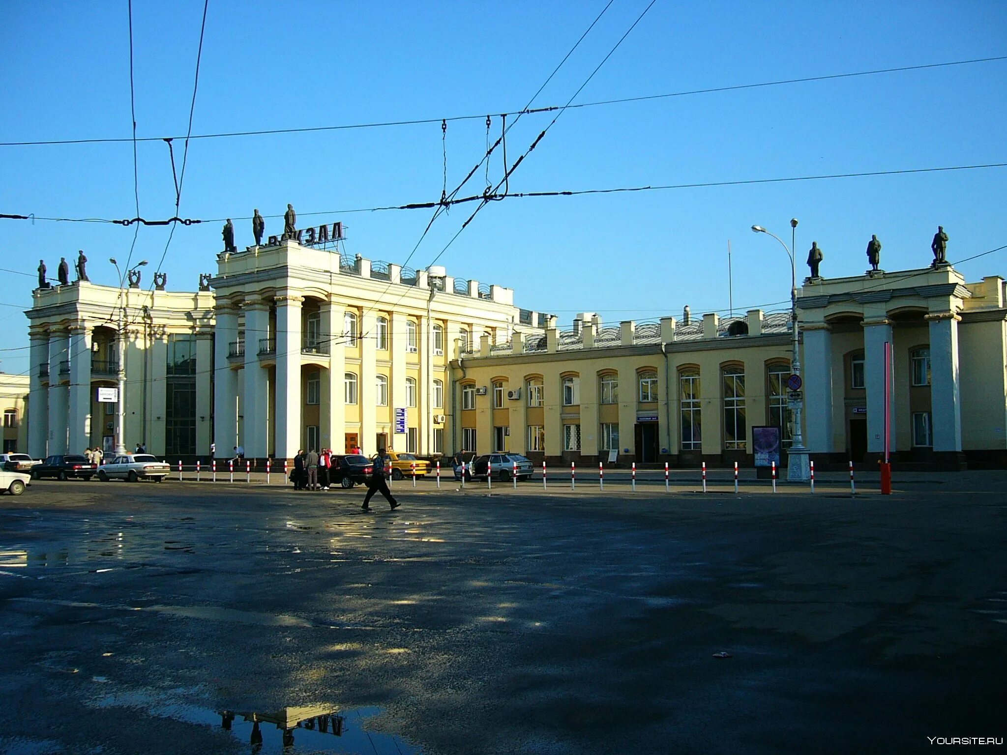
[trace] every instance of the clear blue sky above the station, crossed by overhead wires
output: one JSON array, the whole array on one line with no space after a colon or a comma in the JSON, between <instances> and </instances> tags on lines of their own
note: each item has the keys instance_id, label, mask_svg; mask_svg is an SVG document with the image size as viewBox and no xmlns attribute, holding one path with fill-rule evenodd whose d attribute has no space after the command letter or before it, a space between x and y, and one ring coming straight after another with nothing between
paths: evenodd
<instances>
[{"instance_id":1,"label":"clear blue sky above the station, crossed by overhead wires","mask_svg":"<svg viewBox=\"0 0 1007 755\"><path fill-rule=\"evenodd\" d=\"M606 0L607 1L607 0ZM533 107L563 105L646 7L614 0ZM336 3L209 0L192 133L499 114L520 110L605 6L580 2ZM184 136L202 3L135 0L139 137ZM130 129L127 3L5 3L0 142L126 138ZM657 0L576 103L1007 55L999 2L704 2ZM1007 162L1007 60L673 97L565 112L515 172L512 191L610 188ZM523 153L554 114L528 115L508 135ZM492 119L493 138L499 133ZM180 167L183 142L174 142ZM483 119L448 124L448 190L485 150ZM140 213L174 214L163 142L138 147ZM500 155L490 165L501 176ZM279 214L341 219L346 251L403 263L430 210L328 214L440 197L440 124L189 143L180 215ZM794 183L672 189L492 202L439 264L461 278L515 289L521 307L606 321L786 305L789 263L753 223L789 242L799 276L812 241L827 277L863 273L871 234L882 267L925 267L938 223L955 261L1007 244L1007 168ZM478 193L484 173L466 188ZM470 213L440 217L411 267L431 263ZM0 212L134 215L129 143L0 147ZM240 248L248 220L235 221ZM267 220L267 234L282 220ZM141 228L144 285L168 231ZM133 229L0 220L0 369L27 369L37 260L84 249L91 278L129 254ZM162 270L192 290L215 270L221 223L178 228ZM1003 275L1005 252L959 268ZM390 295L391 296L391 295ZM13 349L13 350L10 350Z\"/></svg>"}]
</instances>

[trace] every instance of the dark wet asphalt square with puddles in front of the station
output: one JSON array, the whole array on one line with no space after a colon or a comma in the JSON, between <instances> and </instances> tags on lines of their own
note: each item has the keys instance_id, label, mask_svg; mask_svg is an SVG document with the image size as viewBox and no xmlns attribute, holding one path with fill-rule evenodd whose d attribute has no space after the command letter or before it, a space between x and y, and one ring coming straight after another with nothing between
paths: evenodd
<instances>
[{"instance_id":1,"label":"dark wet asphalt square with puddles in front of the station","mask_svg":"<svg viewBox=\"0 0 1007 755\"><path fill-rule=\"evenodd\" d=\"M0 498L0 753L1003 738L1005 483L405 480L365 514L361 488L38 481Z\"/></svg>"}]
</instances>

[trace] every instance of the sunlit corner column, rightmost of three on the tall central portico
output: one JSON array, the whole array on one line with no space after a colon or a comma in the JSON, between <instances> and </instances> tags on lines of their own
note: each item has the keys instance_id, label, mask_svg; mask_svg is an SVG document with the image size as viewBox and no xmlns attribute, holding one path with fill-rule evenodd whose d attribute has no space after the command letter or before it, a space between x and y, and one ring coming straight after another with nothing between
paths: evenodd
<instances>
[{"instance_id":1,"label":"sunlit corner column, rightmost of three on the tall central portico","mask_svg":"<svg viewBox=\"0 0 1007 755\"><path fill-rule=\"evenodd\" d=\"M276 456L292 459L301 442L301 302L276 297ZM317 449L315 449L317 450Z\"/></svg>"}]
</instances>

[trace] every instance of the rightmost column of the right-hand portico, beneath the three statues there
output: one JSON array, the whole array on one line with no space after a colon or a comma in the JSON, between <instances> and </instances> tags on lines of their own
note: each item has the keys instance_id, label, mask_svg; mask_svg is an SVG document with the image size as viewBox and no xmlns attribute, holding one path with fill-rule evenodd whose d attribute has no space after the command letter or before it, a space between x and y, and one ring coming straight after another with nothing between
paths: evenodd
<instances>
[{"instance_id":1,"label":"rightmost column of the right-hand portico, beneath the three statues there","mask_svg":"<svg viewBox=\"0 0 1007 755\"><path fill-rule=\"evenodd\" d=\"M926 315L930 328L930 406L933 450L962 450L962 399L958 368L958 321L954 312Z\"/></svg>"}]
</instances>

